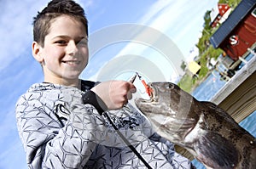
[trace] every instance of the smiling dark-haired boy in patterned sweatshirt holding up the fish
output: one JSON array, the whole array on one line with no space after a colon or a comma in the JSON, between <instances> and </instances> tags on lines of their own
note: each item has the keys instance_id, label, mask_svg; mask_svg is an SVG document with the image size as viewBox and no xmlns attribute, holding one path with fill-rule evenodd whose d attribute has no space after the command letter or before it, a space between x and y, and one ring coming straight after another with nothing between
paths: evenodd
<instances>
[{"instance_id":1,"label":"smiling dark-haired boy in patterned sweatshirt holding up the fish","mask_svg":"<svg viewBox=\"0 0 256 169\"><path fill-rule=\"evenodd\" d=\"M79 80L88 62L88 26L78 3L49 2L34 18L33 34L32 55L42 65L44 82L16 104L29 168L190 168L173 144L125 105L136 91L131 82Z\"/></svg>"}]
</instances>

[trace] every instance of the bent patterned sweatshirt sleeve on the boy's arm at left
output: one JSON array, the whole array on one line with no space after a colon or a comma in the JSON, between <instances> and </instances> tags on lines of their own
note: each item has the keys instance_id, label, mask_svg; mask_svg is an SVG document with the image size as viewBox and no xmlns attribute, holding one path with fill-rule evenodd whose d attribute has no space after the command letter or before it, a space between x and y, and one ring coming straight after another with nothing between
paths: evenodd
<instances>
[{"instance_id":1,"label":"bent patterned sweatshirt sleeve on the boy's arm at left","mask_svg":"<svg viewBox=\"0 0 256 169\"><path fill-rule=\"evenodd\" d=\"M91 133L98 129L99 121L90 115L93 109L82 105L72 109L63 127L53 110L39 99L24 95L18 100L17 127L30 168L84 167L96 147Z\"/></svg>"}]
</instances>

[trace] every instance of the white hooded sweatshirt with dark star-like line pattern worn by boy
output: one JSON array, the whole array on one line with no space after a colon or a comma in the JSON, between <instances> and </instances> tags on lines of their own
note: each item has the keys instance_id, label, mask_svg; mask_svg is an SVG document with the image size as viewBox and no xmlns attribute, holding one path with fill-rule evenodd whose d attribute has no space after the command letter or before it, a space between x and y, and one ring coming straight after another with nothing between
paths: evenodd
<instances>
[{"instance_id":1,"label":"white hooded sweatshirt with dark star-like line pattern worn by boy","mask_svg":"<svg viewBox=\"0 0 256 169\"><path fill-rule=\"evenodd\" d=\"M17 127L29 168L147 168L104 115L81 97L82 90L37 83L16 104ZM130 104L108 116L151 168L190 168L173 144L157 135Z\"/></svg>"}]
</instances>

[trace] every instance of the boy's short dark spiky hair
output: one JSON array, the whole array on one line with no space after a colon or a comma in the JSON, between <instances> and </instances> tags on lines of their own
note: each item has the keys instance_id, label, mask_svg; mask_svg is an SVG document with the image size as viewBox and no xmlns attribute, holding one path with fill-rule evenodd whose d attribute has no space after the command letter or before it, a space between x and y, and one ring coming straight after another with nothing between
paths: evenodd
<instances>
[{"instance_id":1,"label":"boy's short dark spiky hair","mask_svg":"<svg viewBox=\"0 0 256 169\"><path fill-rule=\"evenodd\" d=\"M79 20L88 35L88 21L84 15L84 9L78 3L73 0L52 0L33 18L33 40L44 47L44 37L49 33L52 21L63 14Z\"/></svg>"}]
</instances>

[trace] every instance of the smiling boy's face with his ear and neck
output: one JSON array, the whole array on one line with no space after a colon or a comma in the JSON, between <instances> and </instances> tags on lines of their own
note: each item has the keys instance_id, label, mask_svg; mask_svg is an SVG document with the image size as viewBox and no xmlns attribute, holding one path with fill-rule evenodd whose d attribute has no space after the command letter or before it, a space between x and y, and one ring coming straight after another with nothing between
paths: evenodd
<instances>
[{"instance_id":1,"label":"smiling boy's face with his ear and neck","mask_svg":"<svg viewBox=\"0 0 256 169\"><path fill-rule=\"evenodd\" d=\"M60 16L52 21L49 34L44 38L44 48L33 42L32 50L43 65L44 80L77 81L88 63L84 25L70 16Z\"/></svg>"}]
</instances>

